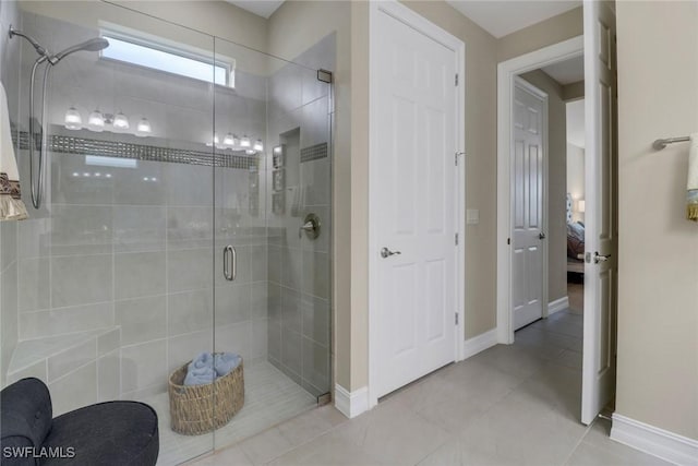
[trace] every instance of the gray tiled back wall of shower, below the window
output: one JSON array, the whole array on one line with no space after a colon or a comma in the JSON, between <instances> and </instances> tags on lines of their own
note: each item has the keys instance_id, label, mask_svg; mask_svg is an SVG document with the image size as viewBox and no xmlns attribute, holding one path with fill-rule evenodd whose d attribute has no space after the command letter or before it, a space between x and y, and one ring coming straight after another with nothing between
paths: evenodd
<instances>
[{"instance_id":1,"label":"gray tiled back wall of shower, below the window","mask_svg":"<svg viewBox=\"0 0 698 466\"><path fill-rule=\"evenodd\" d=\"M41 32L50 32L52 40L60 36L57 41L65 45L95 35L24 16L39 40L48 40ZM31 49L25 52L33 57ZM106 111L122 105L130 116L147 109L154 128L153 138L134 142L210 151L204 145L213 122L210 85L100 62L89 53L70 60L71 67L57 67L52 74L51 132L118 140L123 136L70 132L60 123L65 108L77 105L74 100L84 106L84 117L92 107ZM22 72L28 72L26 60ZM228 109L229 121L263 135L265 79L239 70L238 83L236 93L217 94L216 105ZM22 92L25 98L27 89ZM27 121L26 110L19 113L17 121ZM26 151L22 153L21 171L27 177ZM8 313L14 315L19 338L10 381L41 378L60 414L92 402L166 391L172 370L213 349L214 333L221 350L240 353L245 360L266 358L267 277L266 266L258 266L266 265L266 220L246 208L248 169L214 172L207 166L146 160L132 167L95 166L83 155L49 155L47 202L15 226L17 260L2 275L4 288L13 287L14 274L17 290L16 310ZM214 186L221 190L216 195L236 200L215 214ZM216 237L239 252L234 285L219 284L216 271L215 332L213 275L219 256L214 253L214 218ZM3 225L0 234L10 244L7 229ZM253 256L262 256L261 262ZM10 307L3 306L3 315L4 309Z\"/></svg>"}]
</instances>

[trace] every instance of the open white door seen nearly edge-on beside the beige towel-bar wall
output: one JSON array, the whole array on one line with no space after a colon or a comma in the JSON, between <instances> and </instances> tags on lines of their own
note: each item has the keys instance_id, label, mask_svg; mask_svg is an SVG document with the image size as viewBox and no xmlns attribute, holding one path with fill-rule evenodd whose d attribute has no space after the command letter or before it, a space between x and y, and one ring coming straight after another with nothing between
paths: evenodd
<instances>
[{"instance_id":1,"label":"open white door seen nearly edge-on beside the beige towel-bar wall","mask_svg":"<svg viewBox=\"0 0 698 466\"><path fill-rule=\"evenodd\" d=\"M613 2L585 0L586 251L581 421L615 394L617 289L616 29Z\"/></svg>"}]
</instances>

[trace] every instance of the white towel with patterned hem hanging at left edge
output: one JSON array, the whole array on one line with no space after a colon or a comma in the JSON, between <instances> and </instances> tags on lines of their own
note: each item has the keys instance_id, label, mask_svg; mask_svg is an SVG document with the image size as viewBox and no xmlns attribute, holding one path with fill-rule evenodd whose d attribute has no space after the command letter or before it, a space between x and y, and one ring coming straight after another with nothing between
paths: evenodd
<instances>
[{"instance_id":1,"label":"white towel with patterned hem hanging at left edge","mask_svg":"<svg viewBox=\"0 0 698 466\"><path fill-rule=\"evenodd\" d=\"M0 220L27 218L26 206L20 191L20 172L14 158L8 96L0 83Z\"/></svg>"}]
</instances>

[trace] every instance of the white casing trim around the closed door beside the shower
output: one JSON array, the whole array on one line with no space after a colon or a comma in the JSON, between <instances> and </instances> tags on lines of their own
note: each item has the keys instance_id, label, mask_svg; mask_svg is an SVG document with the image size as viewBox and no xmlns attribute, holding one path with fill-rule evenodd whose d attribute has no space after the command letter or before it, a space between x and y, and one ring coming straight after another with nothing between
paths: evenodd
<instances>
[{"instance_id":1,"label":"white casing trim around the closed door beside the shower","mask_svg":"<svg viewBox=\"0 0 698 466\"><path fill-rule=\"evenodd\" d=\"M419 15L408 7L400 4L397 0L370 2L369 5L369 69L377 70L377 44L376 37L381 35L381 29L377 27L377 17L380 14L387 14L401 23L405 23L409 27L424 34L431 39L440 43L446 48L454 50L456 59L456 72L459 76L459 83L456 88L457 101L456 105L456 151L465 153L466 147L466 44L459 38L450 35L440 26ZM369 409L373 408L378 403L377 392L375 390L376 380L376 349L377 345L377 332L375 332L377 325L377 294L375 286L375 274L377 270L378 249L377 231L376 231L376 218L381 213L372 208L374 203L370 202L371 196L376 192L376 187L381 182L377 175L377 168L375 164L375 157L377 156L377 115L375 106L372 103L375 101L377 93L378 76L375 71L370 73L369 77ZM454 154L456 157L456 154ZM455 348L454 348L454 361L462 359L465 351L465 271L466 271L466 256L465 256L465 226L466 226L466 160L465 155L458 157L457 168L454 170L456 177L456 232L458 234L458 246L456 247L456 306L454 311L458 314L458 324L455 325L454 332Z\"/></svg>"}]
</instances>

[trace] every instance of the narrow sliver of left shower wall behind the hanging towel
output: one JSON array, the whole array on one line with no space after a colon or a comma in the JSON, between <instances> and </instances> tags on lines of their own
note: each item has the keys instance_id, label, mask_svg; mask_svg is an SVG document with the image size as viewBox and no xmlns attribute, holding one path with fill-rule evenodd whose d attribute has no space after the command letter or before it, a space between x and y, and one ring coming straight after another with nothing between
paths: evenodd
<instances>
[{"instance_id":1,"label":"narrow sliver of left shower wall behind the hanging towel","mask_svg":"<svg viewBox=\"0 0 698 466\"><path fill-rule=\"evenodd\" d=\"M16 2L0 2L0 31L10 25L21 27ZM0 34L0 80L8 94L10 115L16 115L19 105L20 46ZM24 180L22 180L24 181ZM22 183L27 188L26 182ZM5 374L17 343L17 223L0 223L0 387L7 383Z\"/></svg>"}]
</instances>

